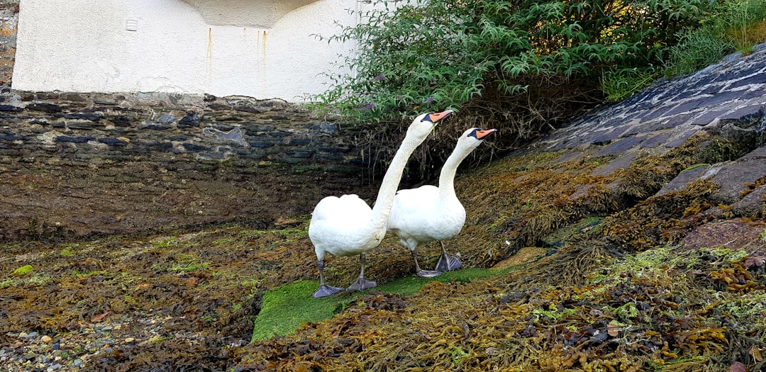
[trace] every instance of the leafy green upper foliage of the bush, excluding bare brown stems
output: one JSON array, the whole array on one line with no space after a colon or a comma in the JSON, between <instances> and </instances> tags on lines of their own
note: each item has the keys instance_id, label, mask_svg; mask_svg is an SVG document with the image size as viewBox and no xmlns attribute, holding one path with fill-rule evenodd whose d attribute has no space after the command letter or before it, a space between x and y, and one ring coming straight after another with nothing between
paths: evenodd
<instances>
[{"instance_id":1,"label":"leafy green upper foliage of the bush, excluding bare brown stems","mask_svg":"<svg viewBox=\"0 0 766 372\"><path fill-rule=\"evenodd\" d=\"M540 82L590 82L597 90L606 71L660 65L676 33L711 7L709 0L381 2L361 24L328 38L354 42L357 54L340 61L349 73L332 75L313 101L355 119L399 119L432 106L481 111Z\"/></svg>"}]
</instances>

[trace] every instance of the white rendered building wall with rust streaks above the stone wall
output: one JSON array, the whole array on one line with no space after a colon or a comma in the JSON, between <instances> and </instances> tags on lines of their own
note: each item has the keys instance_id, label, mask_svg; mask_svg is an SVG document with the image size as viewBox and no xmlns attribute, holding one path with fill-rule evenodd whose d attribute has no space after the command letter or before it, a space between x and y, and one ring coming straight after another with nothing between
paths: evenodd
<instances>
[{"instance_id":1,"label":"white rendered building wall with rust streaks above the stone wall","mask_svg":"<svg viewBox=\"0 0 766 372\"><path fill-rule=\"evenodd\" d=\"M347 9L358 4L319 0L264 28L207 24L182 0L21 0L12 88L302 102L326 89L321 74L351 47L313 34L356 24Z\"/></svg>"}]
</instances>

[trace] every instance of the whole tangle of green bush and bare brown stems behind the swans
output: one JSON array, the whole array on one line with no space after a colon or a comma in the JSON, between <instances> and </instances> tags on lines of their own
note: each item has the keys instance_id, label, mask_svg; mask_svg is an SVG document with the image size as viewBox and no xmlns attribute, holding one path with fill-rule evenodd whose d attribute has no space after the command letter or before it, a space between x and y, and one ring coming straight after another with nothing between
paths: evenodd
<instances>
[{"instance_id":1,"label":"whole tangle of green bush and bare brown stems behind the swans","mask_svg":"<svg viewBox=\"0 0 766 372\"><path fill-rule=\"evenodd\" d=\"M513 148L606 101L624 100L666 75L690 73L766 40L760 0L413 0L377 2L360 24L320 35L352 42L315 109L375 126L360 143L368 158L390 158L379 144L404 118L459 109L449 132L502 130ZM454 128L452 128L454 127ZM452 130L455 129L455 130ZM414 155L443 162L453 139ZM476 152L484 161L492 152Z\"/></svg>"}]
</instances>

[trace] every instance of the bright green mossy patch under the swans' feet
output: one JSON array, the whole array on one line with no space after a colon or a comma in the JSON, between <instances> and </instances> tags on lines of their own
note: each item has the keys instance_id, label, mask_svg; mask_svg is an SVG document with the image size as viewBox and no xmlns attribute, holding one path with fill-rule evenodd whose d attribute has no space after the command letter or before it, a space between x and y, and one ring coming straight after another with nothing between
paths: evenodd
<instances>
[{"instance_id":1,"label":"bright green mossy patch under the swans' feet","mask_svg":"<svg viewBox=\"0 0 766 372\"><path fill-rule=\"evenodd\" d=\"M408 276L395 282L381 284L373 289L362 292L341 292L337 295L314 299L313 292L319 287L319 282L301 280L286 286L281 286L264 293L260 312L255 318L252 341L261 341L275 335L285 336L293 333L304 322L322 321L332 318L349 302L368 291L386 292L398 295L411 295L430 281L439 282L470 282L473 279L490 278L511 271L507 269L462 269L445 272L434 278ZM345 295L344 295L345 294Z\"/></svg>"}]
</instances>

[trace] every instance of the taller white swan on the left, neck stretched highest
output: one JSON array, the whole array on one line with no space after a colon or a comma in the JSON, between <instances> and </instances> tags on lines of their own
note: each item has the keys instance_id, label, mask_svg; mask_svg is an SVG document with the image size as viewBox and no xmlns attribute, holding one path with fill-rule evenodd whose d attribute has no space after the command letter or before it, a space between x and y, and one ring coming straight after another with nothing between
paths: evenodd
<instances>
[{"instance_id":1,"label":"taller white swan on the left, neck stretched highest","mask_svg":"<svg viewBox=\"0 0 766 372\"><path fill-rule=\"evenodd\" d=\"M309 224L309 238L314 244L319 265L319 289L314 292L314 297L332 295L342 290L325 284L323 270L326 253L332 256L359 255L362 269L356 282L349 286L349 290L359 291L377 285L365 280L365 252L378 246L385 236L391 203L410 155L425 141L437 122L450 113L452 110L424 113L414 119L407 129L404 141L388 165L388 171L381 181L378 198L375 200L375 207L368 207L367 203L356 195L325 197L316 204Z\"/></svg>"}]
</instances>

